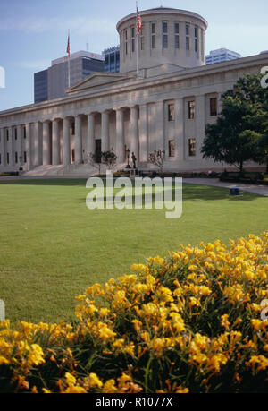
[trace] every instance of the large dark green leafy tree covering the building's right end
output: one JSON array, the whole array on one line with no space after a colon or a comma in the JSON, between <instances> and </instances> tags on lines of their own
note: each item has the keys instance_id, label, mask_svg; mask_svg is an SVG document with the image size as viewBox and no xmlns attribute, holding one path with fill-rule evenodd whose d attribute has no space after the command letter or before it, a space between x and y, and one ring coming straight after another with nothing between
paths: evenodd
<instances>
[{"instance_id":1,"label":"large dark green leafy tree covering the building's right end","mask_svg":"<svg viewBox=\"0 0 268 411\"><path fill-rule=\"evenodd\" d=\"M203 158L225 162L243 171L246 161L267 160L268 90L262 75L247 74L222 95L222 114L205 127Z\"/></svg>"}]
</instances>

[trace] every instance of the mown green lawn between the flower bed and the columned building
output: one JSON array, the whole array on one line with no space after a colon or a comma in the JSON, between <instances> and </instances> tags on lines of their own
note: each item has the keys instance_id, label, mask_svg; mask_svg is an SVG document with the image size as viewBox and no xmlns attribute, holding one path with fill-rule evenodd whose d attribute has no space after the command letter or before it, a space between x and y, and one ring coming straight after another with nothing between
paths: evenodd
<instances>
[{"instance_id":1,"label":"mown green lawn between the flower bed and the columned building","mask_svg":"<svg viewBox=\"0 0 268 411\"><path fill-rule=\"evenodd\" d=\"M71 321L75 296L180 244L268 230L267 198L184 184L183 214L88 210L86 180L0 181L0 298L12 321Z\"/></svg>"}]
</instances>

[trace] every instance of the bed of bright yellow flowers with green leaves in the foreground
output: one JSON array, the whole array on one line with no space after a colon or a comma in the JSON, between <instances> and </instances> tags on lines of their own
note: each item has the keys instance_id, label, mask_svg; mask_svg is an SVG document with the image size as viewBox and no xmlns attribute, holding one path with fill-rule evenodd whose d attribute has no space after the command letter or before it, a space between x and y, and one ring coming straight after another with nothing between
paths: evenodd
<instances>
[{"instance_id":1,"label":"bed of bright yellow flowers with green leaves in the foreground","mask_svg":"<svg viewBox=\"0 0 268 411\"><path fill-rule=\"evenodd\" d=\"M180 246L88 287L75 324L2 322L0 390L267 392L267 252Z\"/></svg>"}]
</instances>

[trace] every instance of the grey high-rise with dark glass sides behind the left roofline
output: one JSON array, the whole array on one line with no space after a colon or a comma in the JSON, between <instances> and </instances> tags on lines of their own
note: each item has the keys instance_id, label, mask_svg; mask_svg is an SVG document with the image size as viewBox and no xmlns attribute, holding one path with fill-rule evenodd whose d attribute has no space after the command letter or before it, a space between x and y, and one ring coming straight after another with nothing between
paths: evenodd
<instances>
[{"instance_id":1,"label":"grey high-rise with dark glass sides behind the left roofline","mask_svg":"<svg viewBox=\"0 0 268 411\"><path fill-rule=\"evenodd\" d=\"M104 72L104 56L79 51L70 56L70 85L83 80L91 73ZM35 103L66 96L69 86L68 57L53 60L51 66L35 73Z\"/></svg>"}]
</instances>

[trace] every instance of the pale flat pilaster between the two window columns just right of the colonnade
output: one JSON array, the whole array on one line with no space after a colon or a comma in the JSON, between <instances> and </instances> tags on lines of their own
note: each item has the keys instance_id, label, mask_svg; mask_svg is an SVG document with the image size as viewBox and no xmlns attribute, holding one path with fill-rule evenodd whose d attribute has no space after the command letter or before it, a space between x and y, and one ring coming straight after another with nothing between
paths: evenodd
<instances>
[{"instance_id":1,"label":"pale flat pilaster between the two window columns just right of the colonnade","mask_svg":"<svg viewBox=\"0 0 268 411\"><path fill-rule=\"evenodd\" d=\"M184 99L174 100L175 116L175 158L178 161L185 159L185 135L184 135Z\"/></svg>"}]
</instances>

